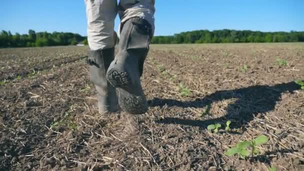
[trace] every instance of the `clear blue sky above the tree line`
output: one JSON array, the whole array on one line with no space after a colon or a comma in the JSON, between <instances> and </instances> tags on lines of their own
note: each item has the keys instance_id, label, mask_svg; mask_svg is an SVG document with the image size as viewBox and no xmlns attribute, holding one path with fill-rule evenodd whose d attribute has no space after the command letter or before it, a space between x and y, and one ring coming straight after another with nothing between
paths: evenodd
<instances>
[{"instance_id":1,"label":"clear blue sky above the tree line","mask_svg":"<svg viewBox=\"0 0 304 171\"><path fill-rule=\"evenodd\" d=\"M304 0L156 0L155 35L195 29L304 31ZM117 28L119 18L115 20ZM0 30L86 35L83 0L1 0Z\"/></svg>"}]
</instances>

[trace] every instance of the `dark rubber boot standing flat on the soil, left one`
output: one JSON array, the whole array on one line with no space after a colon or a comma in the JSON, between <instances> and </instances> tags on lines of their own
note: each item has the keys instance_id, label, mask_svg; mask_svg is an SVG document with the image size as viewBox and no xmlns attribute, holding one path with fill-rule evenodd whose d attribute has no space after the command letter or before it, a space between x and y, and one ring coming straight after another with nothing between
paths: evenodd
<instances>
[{"instance_id":1,"label":"dark rubber boot standing flat on the soil, left one","mask_svg":"<svg viewBox=\"0 0 304 171\"><path fill-rule=\"evenodd\" d=\"M97 90L99 113L115 112L119 109L115 87L105 78L106 70L113 58L114 48L90 50L88 54L89 77Z\"/></svg>"}]
</instances>

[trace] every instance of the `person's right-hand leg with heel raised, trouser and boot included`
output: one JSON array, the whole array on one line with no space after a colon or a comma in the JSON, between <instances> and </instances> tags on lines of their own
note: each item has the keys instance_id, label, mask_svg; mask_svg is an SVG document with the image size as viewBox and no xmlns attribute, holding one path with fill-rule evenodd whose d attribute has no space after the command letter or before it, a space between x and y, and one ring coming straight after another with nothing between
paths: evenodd
<instances>
[{"instance_id":1,"label":"person's right-hand leg with heel raised, trouser and boot included","mask_svg":"<svg viewBox=\"0 0 304 171\"><path fill-rule=\"evenodd\" d=\"M120 108L133 114L147 110L140 76L154 32L154 3L154 0L120 0L118 5L121 18L118 53L106 77L119 90Z\"/></svg>"}]
</instances>

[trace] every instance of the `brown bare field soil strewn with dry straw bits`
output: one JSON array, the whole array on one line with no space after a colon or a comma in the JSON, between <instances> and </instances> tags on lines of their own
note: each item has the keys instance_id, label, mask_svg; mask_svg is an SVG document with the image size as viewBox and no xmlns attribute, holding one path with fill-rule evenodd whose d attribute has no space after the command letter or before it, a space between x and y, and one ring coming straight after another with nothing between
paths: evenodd
<instances>
[{"instance_id":1,"label":"brown bare field soil strewn with dry straw bits","mask_svg":"<svg viewBox=\"0 0 304 171\"><path fill-rule=\"evenodd\" d=\"M303 43L151 45L136 134L98 114L87 48L0 49L0 170L304 170ZM259 154L224 154L260 134Z\"/></svg>"}]
</instances>

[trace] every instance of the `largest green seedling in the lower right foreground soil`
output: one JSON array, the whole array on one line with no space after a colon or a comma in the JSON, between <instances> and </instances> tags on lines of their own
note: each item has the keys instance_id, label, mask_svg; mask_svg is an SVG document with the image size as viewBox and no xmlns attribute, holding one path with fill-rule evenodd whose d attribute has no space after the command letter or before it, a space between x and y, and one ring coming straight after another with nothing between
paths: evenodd
<instances>
[{"instance_id":1,"label":"largest green seedling in the lower right foreground soil","mask_svg":"<svg viewBox=\"0 0 304 171\"><path fill-rule=\"evenodd\" d=\"M240 141L236 146L229 148L225 151L225 155L232 156L234 154L238 154L241 158L248 157L250 155L249 150L247 148L251 148L251 156L254 154L258 154L258 149L256 146L264 144L268 141L267 136L259 135L255 139L251 141Z\"/></svg>"}]
</instances>

